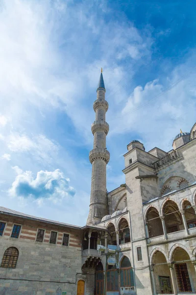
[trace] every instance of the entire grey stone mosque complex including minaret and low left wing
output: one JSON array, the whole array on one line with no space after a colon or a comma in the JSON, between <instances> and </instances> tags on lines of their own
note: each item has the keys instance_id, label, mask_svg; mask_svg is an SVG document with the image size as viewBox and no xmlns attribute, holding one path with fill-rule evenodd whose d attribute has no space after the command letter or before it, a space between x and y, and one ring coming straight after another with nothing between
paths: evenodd
<instances>
[{"instance_id":1,"label":"entire grey stone mosque complex including minaret and low left wing","mask_svg":"<svg viewBox=\"0 0 196 295\"><path fill-rule=\"evenodd\" d=\"M108 193L105 91L101 73L86 226L0 207L0 295L196 295L196 123L170 151L132 140Z\"/></svg>"}]
</instances>

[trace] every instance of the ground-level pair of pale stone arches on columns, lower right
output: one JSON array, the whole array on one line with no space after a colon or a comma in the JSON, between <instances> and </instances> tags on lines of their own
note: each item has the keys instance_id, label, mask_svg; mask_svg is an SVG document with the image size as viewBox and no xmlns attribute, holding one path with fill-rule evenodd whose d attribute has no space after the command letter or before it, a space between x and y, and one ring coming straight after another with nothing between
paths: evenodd
<instances>
[{"instance_id":1,"label":"ground-level pair of pale stone arches on columns, lower right","mask_svg":"<svg viewBox=\"0 0 196 295\"><path fill-rule=\"evenodd\" d=\"M196 248L190 252L175 244L169 255L159 247L150 254L150 273L153 294L181 294L196 292Z\"/></svg>"}]
</instances>

